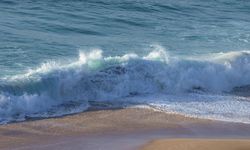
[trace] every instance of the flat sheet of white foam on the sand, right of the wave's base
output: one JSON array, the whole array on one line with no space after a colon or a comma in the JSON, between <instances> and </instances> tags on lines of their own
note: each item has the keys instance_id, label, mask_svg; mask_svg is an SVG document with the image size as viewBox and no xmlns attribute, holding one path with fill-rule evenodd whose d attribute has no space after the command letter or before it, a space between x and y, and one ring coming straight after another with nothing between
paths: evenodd
<instances>
[{"instance_id":1,"label":"flat sheet of white foam on the sand, right of the wave's base","mask_svg":"<svg viewBox=\"0 0 250 150\"><path fill-rule=\"evenodd\" d=\"M151 107L189 117L250 123L250 98L189 93L146 98Z\"/></svg>"}]
</instances>

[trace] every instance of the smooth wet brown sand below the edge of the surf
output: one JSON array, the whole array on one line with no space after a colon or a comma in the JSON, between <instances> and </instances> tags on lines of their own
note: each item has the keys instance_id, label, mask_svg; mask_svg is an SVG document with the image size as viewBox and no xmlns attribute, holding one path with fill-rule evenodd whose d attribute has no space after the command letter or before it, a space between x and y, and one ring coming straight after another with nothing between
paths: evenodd
<instances>
[{"instance_id":1,"label":"smooth wet brown sand below the edge of the surf","mask_svg":"<svg viewBox=\"0 0 250 150\"><path fill-rule=\"evenodd\" d=\"M147 108L127 108L1 125L0 149L147 150L152 146L160 149L161 145L171 143L190 145L190 140L199 148L197 140L192 138L203 139L198 143L204 145L213 142L205 140L207 138L219 138L221 141L216 142L228 145L222 139L230 138L230 141L235 141L233 144L240 145L249 137L248 124L189 118ZM168 141L172 139L177 140ZM148 144L142 146L145 143Z\"/></svg>"}]
</instances>

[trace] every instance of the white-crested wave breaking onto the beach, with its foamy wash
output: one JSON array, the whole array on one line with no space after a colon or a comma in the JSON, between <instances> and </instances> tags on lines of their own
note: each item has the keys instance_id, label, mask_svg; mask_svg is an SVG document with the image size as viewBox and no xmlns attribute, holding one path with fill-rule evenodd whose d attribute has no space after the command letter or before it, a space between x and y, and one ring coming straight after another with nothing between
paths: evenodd
<instances>
[{"instance_id":1,"label":"white-crested wave breaking onto the beach, with its foamy wash","mask_svg":"<svg viewBox=\"0 0 250 150\"><path fill-rule=\"evenodd\" d=\"M2 78L0 122L76 113L86 110L90 101L133 101L135 97L137 102L166 111L250 122L248 110L237 116L227 113L249 105L247 97L230 96L248 93L245 87L249 85L249 51L192 57L171 55L161 47L146 56L131 53L104 57L98 49L80 51L79 59L69 64L48 62L25 74ZM151 95L154 101L147 101L145 95ZM166 97L159 100L152 95ZM241 99L244 104L238 103ZM204 115L208 111L216 115Z\"/></svg>"}]
</instances>

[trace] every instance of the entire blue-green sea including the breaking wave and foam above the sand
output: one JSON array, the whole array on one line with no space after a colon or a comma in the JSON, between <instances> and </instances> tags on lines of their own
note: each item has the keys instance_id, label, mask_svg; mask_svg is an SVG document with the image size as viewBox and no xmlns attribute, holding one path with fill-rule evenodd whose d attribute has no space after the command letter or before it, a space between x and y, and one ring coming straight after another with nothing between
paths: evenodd
<instances>
[{"instance_id":1,"label":"entire blue-green sea including the breaking wave and foam above the sand","mask_svg":"<svg viewBox=\"0 0 250 150\"><path fill-rule=\"evenodd\" d=\"M100 103L250 123L249 92L248 0L0 1L2 124Z\"/></svg>"}]
</instances>

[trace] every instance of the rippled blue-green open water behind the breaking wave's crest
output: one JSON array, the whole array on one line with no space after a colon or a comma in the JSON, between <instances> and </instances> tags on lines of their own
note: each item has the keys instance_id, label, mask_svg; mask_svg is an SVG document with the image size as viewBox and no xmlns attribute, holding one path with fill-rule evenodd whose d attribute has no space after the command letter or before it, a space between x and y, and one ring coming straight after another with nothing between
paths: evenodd
<instances>
[{"instance_id":1,"label":"rippled blue-green open water behind the breaking wave's crest","mask_svg":"<svg viewBox=\"0 0 250 150\"><path fill-rule=\"evenodd\" d=\"M151 44L180 54L247 50L249 14L246 0L2 0L0 74L96 47L111 56Z\"/></svg>"}]
</instances>

